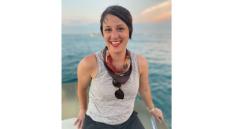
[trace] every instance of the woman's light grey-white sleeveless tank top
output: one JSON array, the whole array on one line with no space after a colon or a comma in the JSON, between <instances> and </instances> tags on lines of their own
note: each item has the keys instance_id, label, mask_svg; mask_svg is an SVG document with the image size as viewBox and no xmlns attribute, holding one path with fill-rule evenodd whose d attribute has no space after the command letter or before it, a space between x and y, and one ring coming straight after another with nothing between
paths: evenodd
<instances>
[{"instance_id":1,"label":"woman's light grey-white sleeveless tank top","mask_svg":"<svg viewBox=\"0 0 230 129\"><path fill-rule=\"evenodd\" d=\"M112 84L112 77L104 66L102 53L103 51L96 53L98 73L91 81L86 114L97 122L121 124L131 116L139 89L137 55L131 52L132 72L129 80L121 86L124 99L117 99L114 94L118 88Z\"/></svg>"}]
</instances>

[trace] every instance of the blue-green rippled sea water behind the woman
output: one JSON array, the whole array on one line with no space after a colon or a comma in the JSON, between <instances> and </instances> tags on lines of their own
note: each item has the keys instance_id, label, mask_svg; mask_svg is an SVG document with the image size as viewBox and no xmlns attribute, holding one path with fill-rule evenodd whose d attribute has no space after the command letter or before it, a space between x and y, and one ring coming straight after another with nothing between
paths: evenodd
<instances>
[{"instance_id":1,"label":"blue-green rippled sea water behind the woman","mask_svg":"<svg viewBox=\"0 0 230 129\"><path fill-rule=\"evenodd\" d=\"M171 129L171 27L167 25L136 25L128 49L145 56L149 63L152 96L161 108ZM62 83L77 81L79 61L104 48L98 31L62 34Z\"/></svg>"}]
</instances>

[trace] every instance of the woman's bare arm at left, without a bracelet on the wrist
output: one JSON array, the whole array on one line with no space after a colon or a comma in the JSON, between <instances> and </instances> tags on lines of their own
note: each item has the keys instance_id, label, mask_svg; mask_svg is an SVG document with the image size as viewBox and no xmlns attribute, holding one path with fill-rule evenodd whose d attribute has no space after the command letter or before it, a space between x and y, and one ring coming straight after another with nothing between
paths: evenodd
<instances>
[{"instance_id":1,"label":"woman's bare arm at left, without a bracelet on the wrist","mask_svg":"<svg viewBox=\"0 0 230 129\"><path fill-rule=\"evenodd\" d=\"M77 120L75 121L75 125L77 125L79 129L81 129L83 126L85 113L87 110L87 104L88 104L87 91L92 78L95 76L96 66L97 63L96 63L95 55L90 55L85 57L80 61L78 65L77 95L79 98L80 110L79 110Z\"/></svg>"}]
</instances>

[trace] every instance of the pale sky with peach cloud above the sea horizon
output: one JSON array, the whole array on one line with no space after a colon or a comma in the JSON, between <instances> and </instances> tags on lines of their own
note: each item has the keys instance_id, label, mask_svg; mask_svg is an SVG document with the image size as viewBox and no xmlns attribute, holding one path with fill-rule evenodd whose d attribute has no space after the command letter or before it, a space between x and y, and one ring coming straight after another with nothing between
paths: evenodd
<instances>
[{"instance_id":1,"label":"pale sky with peach cloud above the sea horizon","mask_svg":"<svg viewBox=\"0 0 230 129\"><path fill-rule=\"evenodd\" d=\"M126 7L134 23L160 23L171 20L170 0L62 0L64 26L99 23L109 5Z\"/></svg>"}]
</instances>

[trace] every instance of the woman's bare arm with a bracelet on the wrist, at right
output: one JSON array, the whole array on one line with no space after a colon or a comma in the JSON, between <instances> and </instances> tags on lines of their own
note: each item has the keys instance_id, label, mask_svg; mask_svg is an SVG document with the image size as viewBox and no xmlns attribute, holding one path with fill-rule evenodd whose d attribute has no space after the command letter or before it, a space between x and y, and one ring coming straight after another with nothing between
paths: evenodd
<instances>
[{"instance_id":1,"label":"woman's bare arm with a bracelet on the wrist, at right","mask_svg":"<svg viewBox=\"0 0 230 129\"><path fill-rule=\"evenodd\" d=\"M163 120L163 114L160 109L156 108L152 101L151 89L149 85L148 62L143 56L138 56L138 66L140 72L140 88L139 92L144 100L148 111L159 121Z\"/></svg>"}]
</instances>

